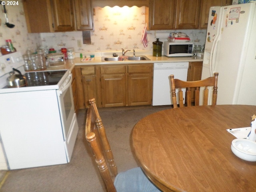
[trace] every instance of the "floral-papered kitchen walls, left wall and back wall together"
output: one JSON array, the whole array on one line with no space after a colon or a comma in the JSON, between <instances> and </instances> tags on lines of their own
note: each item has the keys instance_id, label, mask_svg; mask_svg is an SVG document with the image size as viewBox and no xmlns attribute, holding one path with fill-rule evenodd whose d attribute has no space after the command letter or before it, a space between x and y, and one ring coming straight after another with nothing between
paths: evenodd
<instances>
[{"instance_id":1,"label":"floral-papered kitchen walls, left wall and back wall together","mask_svg":"<svg viewBox=\"0 0 256 192\"><path fill-rule=\"evenodd\" d=\"M2 6L1 6L2 7ZM185 32L195 44L203 45L206 38L206 30L167 30L148 31L148 46L141 42L143 28L145 26L145 7L140 8L126 6L119 8L108 6L96 7L94 15L94 31L91 31L91 43L83 44L82 32L56 32L56 33L28 33L22 1L17 6L6 6L9 23L15 24L14 28L7 28L2 8L0 19L0 46L6 39L11 39L14 47L24 53L27 49L36 50L37 46L47 46L60 50L63 47L74 47L75 52L89 53L116 52L124 49L152 50L152 42L156 37L165 41L170 32ZM38 21L40 22L40 21ZM79 46L78 42L82 42Z\"/></svg>"}]
</instances>

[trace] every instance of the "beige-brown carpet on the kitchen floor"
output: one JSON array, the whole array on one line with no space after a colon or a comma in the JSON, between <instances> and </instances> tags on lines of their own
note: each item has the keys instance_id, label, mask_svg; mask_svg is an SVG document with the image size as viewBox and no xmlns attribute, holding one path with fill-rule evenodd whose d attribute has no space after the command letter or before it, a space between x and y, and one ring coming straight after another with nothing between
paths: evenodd
<instances>
[{"instance_id":1,"label":"beige-brown carpet on the kitchen floor","mask_svg":"<svg viewBox=\"0 0 256 192\"><path fill-rule=\"evenodd\" d=\"M171 106L100 108L118 172L137 167L131 148L132 128L141 118ZM79 131L70 163L0 171L0 192L105 192L84 140L86 110L77 114Z\"/></svg>"}]
</instances>

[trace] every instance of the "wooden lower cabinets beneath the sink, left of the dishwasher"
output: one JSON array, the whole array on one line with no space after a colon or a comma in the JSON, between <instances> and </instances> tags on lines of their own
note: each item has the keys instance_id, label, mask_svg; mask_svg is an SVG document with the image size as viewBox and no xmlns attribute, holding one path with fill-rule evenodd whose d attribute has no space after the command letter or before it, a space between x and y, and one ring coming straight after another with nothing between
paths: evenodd
<instances>
[{"instance_id":1,"label":"wooden lower cabinets beneath the sink, left of the dishwasher","mask_svg":"<svg viewBox=\"0 0 256 192\"><path fill-rule=\"evenodd\" d=\"M78 106L87 108L96 99L98 107L150 105L153 65L113 64L76 66Z\"/></svg>"}]
</instances>

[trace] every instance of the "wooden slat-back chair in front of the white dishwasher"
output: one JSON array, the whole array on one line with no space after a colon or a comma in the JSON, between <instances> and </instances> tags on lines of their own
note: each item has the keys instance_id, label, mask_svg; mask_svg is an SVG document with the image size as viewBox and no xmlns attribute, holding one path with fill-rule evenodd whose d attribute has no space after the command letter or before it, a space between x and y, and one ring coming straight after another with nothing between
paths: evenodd
<instances>
[{"instance_id":1,"label":"wooden slat-back chair in front of the white dishwasher","mask_svg":"<svg viewBox=\"0 0 256 192\"><path fill-rule=\"evenodd\" d=\"M213 86L213 94L212 94L212 105L216 105L217 102L217 83L218 83L218 75L219 73L214 73L213 77L206 78L204 80L199 81L182 81L179 79L174 79L174 75L170 75L171 80L171 91L172 91L172 102L173 107L177 108L177 97L176 97L176 88L179 89L179 105L183 107L183 92L182 88L186 88L186 103L187 106L191 106L191 88L195 88L195 105L199 105L199 97L200 97L200 87L204 88L204 95L203 95L203 105L208 105L208 86Z\"/></svg>"}]
</instances>

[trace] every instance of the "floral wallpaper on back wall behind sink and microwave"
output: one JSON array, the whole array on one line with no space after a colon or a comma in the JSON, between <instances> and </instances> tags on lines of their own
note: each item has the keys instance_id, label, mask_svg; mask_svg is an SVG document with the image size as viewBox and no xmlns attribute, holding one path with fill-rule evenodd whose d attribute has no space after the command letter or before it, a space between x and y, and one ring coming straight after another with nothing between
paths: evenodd
<instances>
[{"instance_id":1,"label":"floral wallpaper on back wall behind sink and microwave","mask_svg":"<svg viewBox=\"0 0 256 192\"><path fill-rule=\"evenodd\" d=\"M145 7L133 6L122 8L96 7L94 8L94 30L91 34L91 44L83 44L82 32L42 33L42 44L60 50L62 47L74 47L75 52L106 52L121 51L121 48L135 50L152 50L152 42L156 41L156 34L164 32L166 41L170 32L185 32L195 44L204 45L206 30L167 30L148 31L148 46L144 47L141 38L145 26ZM78 46L82 42L82 46Z\"/></svg>"}]
</instances>

